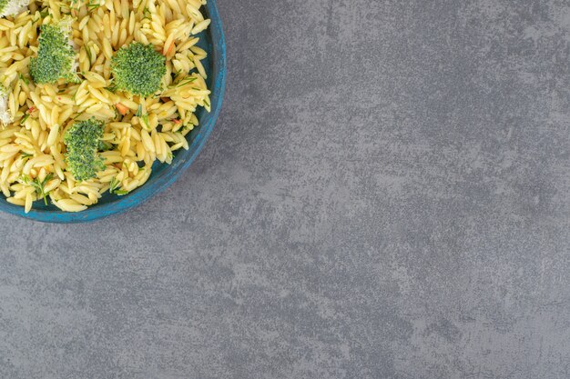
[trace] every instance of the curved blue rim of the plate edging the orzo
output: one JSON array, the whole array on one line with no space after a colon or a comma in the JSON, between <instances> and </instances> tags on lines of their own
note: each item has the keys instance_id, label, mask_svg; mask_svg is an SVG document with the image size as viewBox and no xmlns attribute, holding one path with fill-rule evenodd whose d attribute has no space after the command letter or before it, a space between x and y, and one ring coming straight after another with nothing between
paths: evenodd
<instances>
[{"instance_id":1,"label":"curved blue rim of the plate edging the orzo","mask_svg":"<svg viewBox=\"0 0 570 379\"><path fill-rule=\"evenodd\" d=\"M118 197L116 201L111 203L93 205L86 211L80 213L32 209L29 213L25 214L22 206L6 202L4 196L1 195L0 211L44 223L87 223L113 214L126 212L172 185L194 162L204 147L206 140L216 124L226 89L226 40L215 0L208 0L206 11L211 20L209 26L209 35L212 45L211 65L213 66L211 72L212 75L214 75L211 84L212 95L210 95L211 112L203 124L200 122L199 133L195 135L188 151L183 150L179 153L172 165L162 170L158 175L151 175L148 182L138 188L136 192L127 194L124 197Z\"/></svg>"}]
</instances>

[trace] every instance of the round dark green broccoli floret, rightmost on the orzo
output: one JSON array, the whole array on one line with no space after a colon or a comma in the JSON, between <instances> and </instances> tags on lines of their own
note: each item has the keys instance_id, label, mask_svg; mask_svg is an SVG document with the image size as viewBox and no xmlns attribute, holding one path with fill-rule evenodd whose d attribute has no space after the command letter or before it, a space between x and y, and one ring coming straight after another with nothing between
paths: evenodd
<instances>
[{"instance_id":1,"label":"round dark green broccoli floret, rightmost on the orzo","mask_svg":"<svg viewBox=\"0 0 570 379\"><path fill-rule=\"evenodd\" d=\"M162 77L167 73L166 58L152 45L135 42L117 51L111 70L117 90L148 96L160 89Z\"/></svg>"}]
</instances>

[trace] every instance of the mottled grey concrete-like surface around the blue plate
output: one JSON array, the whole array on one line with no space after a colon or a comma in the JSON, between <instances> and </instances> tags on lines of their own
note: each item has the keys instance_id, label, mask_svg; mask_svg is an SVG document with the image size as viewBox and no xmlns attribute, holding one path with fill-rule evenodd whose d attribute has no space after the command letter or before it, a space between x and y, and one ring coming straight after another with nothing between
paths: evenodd
<instances>
[{"instance_id":1,"label":"mottled grey concrete-like surface around the blue plate","mask_svg":"<svg viewBox=\"0 0 570 379\"><path fill-rule=\"evenodd\" d=\"M219 0L165 194L0 215L0 377L570 377L570 5Z\"/></svg>"}]
</instances>

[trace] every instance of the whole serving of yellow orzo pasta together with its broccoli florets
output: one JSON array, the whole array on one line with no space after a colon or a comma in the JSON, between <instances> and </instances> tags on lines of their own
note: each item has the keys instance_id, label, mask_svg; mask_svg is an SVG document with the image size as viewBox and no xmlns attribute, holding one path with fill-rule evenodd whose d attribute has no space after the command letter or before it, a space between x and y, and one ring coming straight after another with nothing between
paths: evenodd
<instances>
[{"instance_id":1,"label":"whole serving of yellow orzo pasta together with its broccoli florets","mask_svg":"<svg viewBox=\"0 0 570 379\"><path fill-rule=\"evenodd\" d=\"M210 110L206 0L0 0L0 190L79 212L144 185ZM36 203L37 202L37 203Z\"/></svg>"}]
</instances>

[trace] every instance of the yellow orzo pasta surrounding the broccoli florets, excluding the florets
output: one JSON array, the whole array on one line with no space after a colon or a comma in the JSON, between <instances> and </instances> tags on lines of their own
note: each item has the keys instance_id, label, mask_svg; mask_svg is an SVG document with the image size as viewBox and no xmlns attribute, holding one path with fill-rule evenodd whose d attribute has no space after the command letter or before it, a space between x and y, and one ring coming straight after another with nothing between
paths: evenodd
<instances>
[{"instance_id":1,"label":"yellow orzo pasta surrounding the broccoli florets, excluding the florets","mask_svg":"<svg viewBox=\"0 0 570 379\"><path fill-rule=\"evenodd\" d=\"M0 189L29 212L43 194L59 209L80 212L109 188L127 194L147 182L158 160L188 149L198 106L210 110L198 33L209 26L199 12L206 0L32 1L0 18ZM39 26L69 19L78 53L77 84L35 85L30 59L37 55ZM154 45L166 56L167 75L157 95L112 92L111 58L131 42ZM5 101L2 101L5 100ZM3 112L5 111L5 112ZM124 114L124 115L123 115ZM105 169L76 182L66 171L64 135L74 122L105 123L100 153Z\"/></svg>"}]
</instances>

